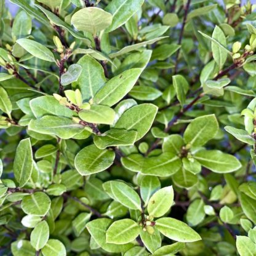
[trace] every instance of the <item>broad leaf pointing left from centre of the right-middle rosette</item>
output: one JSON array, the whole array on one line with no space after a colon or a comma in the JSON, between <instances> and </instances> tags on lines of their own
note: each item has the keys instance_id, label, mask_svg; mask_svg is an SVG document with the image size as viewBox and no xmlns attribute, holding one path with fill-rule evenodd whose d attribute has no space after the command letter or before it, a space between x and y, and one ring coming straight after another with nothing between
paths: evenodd
<instances>
[{"instance_id":1,"label":"broad leaf pointing left from centre of the right-middle rosette","mask_svg":"<svg viewBox=\"0 0 256 256\"><path fill-rule=\"evenodd\" d=\"M153 175L158 177L168 177L175 174L180 167L182 161L173 153L162 153L159 156L146 158L142 166L142 174Z\"/></svg>"}]
</instances>

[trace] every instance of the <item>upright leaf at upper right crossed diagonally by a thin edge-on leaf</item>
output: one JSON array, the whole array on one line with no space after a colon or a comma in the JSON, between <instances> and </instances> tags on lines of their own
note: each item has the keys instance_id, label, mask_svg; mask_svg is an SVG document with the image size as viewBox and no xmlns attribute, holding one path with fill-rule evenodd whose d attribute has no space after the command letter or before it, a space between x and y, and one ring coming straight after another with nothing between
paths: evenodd
<instances>
[{"instance_id":1,"label":"upright leaf at upper right crossed diagonally by a thin edge-on leaf","mask_svg":"<svg viewBox=\"0 0 256 256\"><path fill-rule=\"evenodd\" d=\"M212 33L212 38L219 42L219 44L221 44L223 47L226 47L226 36L222 29L218 26L215 26L214 32ZM219 44L212 41L212 55L217 65L220 67L220 69L222 69L228 55L226 50L223 50Z\"/></svg>"}]
</instances>

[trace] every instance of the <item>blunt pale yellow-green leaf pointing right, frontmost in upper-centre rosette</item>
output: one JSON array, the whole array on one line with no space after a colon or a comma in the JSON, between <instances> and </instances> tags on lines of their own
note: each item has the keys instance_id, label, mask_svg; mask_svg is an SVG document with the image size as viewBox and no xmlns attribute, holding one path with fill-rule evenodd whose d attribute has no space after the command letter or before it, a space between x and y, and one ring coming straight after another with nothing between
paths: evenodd
<instances>
[{"instance_id":1,"label":"blunt pale yellow-green leaf pointing right, frontmost in upper-centre rosette","mask_svg":"<svg viewBox=\"0 0 256 256\"><path fill-rule=\"evenodd\" d=\"M89 110L81 110L79 118L94 124L113 124L115 112L109 106L92 105Z\"/></svg>"}]
</instances>

